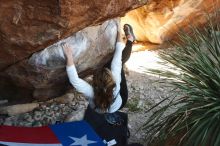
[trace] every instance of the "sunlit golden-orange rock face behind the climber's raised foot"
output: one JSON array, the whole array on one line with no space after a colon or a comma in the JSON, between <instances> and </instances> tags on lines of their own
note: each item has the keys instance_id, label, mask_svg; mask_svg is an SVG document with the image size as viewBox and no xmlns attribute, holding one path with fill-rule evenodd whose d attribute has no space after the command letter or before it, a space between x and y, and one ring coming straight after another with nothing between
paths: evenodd
<instances>
[{"instance_id":1,"label":"sunlit golden-orange rock face behind the climber's raised foot","mask_svg":"<svg viewBox=\"0 0 220 146\"><path fill-rule=\"evenodd\" d=\"M176 38L178 29L187 31L190 25L204 25L207 14L219 8L217 0L152 0L127 13L122 22L135 27L139 41L162 44Z\"/></svg>"}]
</instances>

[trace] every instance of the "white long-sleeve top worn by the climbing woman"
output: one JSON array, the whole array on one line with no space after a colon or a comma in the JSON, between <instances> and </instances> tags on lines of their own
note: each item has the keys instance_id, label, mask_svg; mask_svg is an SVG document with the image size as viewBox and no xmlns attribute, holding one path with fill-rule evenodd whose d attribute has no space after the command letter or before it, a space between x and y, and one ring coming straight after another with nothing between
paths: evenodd
<instances>
[{"instance_id":1,"label":"white long-sleeve top worn by the climbing woman","mask_svg":"<svg viewBox=\"0 0 220 146\"><path fill-rule=\"evenodd\" d=\"M119 93L120 91L120 83L121 83L121 68L122 68L122 51L125 47L125 44L122 42L116 43L115 53L111 62L111 72L113 79L116 83L115 88L113 89L113 96L115 101L111 104L110 108L108 109L109 113L116 112L122 104L122 98ZM95 108L94 104L94 89L93 87L86 82L85 80L79 78L75 65L67 66L66 67L67 75L69 78L70 83L76 90L82 93L89 101L89 105L91 108ZM103 97L105 98L105 97ZM96 109L97 112L100 112L99 109Z\"/></svg>"}]
</instances>

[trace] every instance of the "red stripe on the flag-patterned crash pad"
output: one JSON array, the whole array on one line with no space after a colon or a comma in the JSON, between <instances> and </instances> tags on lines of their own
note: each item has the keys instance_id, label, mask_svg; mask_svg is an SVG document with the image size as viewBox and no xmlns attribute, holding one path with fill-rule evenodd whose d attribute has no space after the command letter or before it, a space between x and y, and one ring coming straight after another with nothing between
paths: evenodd
<instances>
[{"instance_id":1,"label":"red stripe on the flag-patterned crash pad","mask_svg":"<svg viewBox=\"0 0 220 146\"><path fill-rule=\"evenodd\" d=\"M60 143L48 126L43 127L15 127L0 126L0 141L20 143Z\"/></svg>"}]
</instances>

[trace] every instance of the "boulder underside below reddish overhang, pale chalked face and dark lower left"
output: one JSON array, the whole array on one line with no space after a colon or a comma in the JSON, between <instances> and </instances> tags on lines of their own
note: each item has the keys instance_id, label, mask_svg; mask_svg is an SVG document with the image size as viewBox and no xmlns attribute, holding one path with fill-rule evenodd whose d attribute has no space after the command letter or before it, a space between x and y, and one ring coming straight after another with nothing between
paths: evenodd
<instances>
[{"instance_id":1,"label":"boulder underside below reddish overhang, pale chalked face and dark lower left","mask_svg":"<svg viewBox=\"0 0 220 146\"><path fill-rule=\"evenodd\" d=\"M65 57L60 43L67 42L74 49L74 61L78 72L90 72L107 62L113 52L117 36L117 21L106 21L102 25L85 28L73 36L61 40L43 51L33 54L30 59L9 67L2 74L0 93L7 96L19 95L47 99L62 95L68 80L65 71ZM11 81L11 84L8 83ZM20 87L14 92L12 85ZM6 88L8 87L8 89ZM16 87L15 87L16 88ZM10 95L8 95L10 96Z\"/></svg>"}]
</instances>

